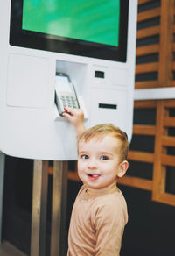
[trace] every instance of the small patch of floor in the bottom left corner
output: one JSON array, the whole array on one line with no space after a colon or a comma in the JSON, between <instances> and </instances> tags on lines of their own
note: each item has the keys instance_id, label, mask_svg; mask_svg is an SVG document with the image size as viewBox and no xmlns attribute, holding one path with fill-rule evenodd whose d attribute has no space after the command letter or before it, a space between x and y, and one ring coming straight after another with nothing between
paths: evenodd
<instances>
[{"instance_id":1,"label":"small patch of floor in the bottom left corner","mask_svg":"<svg viewBox=\"0 0 175 256\"><path fill-rule=\"evenodd\" d=\"M3 242L0 245L0 256L27 256L25 253L20 252L16 247L9 244L8 242Z\"/></svg>"}]
</instances>

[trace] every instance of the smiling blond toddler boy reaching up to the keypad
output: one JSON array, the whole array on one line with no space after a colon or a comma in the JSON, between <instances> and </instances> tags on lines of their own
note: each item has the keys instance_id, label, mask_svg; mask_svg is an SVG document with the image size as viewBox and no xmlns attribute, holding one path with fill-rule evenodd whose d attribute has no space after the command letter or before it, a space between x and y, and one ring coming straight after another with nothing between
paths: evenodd
<instances>
[{"instance_id":1,"label":"smiling blond toddler boy reaching up to the keypad","mask_svg":"<svg viewBox=\"0 0 175 256\"><path fill-rule=\"evenodd\" d=\"M127 135L113 124L85 131L81 110L66 111L78 134L78 174L83 182L73 205L67 256L118 256L128 213L116 183L128 169Z\"/></svg>"}]
</instances>

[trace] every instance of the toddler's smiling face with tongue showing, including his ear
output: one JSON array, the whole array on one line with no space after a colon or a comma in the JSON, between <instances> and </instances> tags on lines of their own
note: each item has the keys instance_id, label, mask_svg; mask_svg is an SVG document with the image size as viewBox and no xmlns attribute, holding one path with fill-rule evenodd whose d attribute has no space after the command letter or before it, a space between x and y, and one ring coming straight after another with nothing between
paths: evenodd
<instances>
[{"instance_id":1,"label":"toddler's smiling face with tongue showing, including his ear","mask_svg":"<svg viewBox=\"0 0 175 256\"><path fill-rule=\"evenodd\" d=\"M102 140L80 141L78 174L89 188L106 188L126 173L128 162L120 161L120 144L109 135Z\"/></svg>"}]
</instances>

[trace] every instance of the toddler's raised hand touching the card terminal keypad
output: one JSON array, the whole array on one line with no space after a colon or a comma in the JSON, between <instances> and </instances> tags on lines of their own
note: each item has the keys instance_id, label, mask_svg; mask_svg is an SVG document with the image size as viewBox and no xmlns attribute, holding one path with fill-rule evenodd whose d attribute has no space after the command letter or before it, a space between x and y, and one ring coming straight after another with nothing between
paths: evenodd
<instances>
[{"instance_id":1,"label":"toddler's raised hand touching the card terminal keypad","mask_svg":"<svg viewBox=\"0 0 175 256\"><path fill-rule=\"evenodd\" d=\"M84 126L84 113L81 109L73 109L73 108L64 108L65 113L63 113L63 117L66 117L75 127L77 134L81 134L85 132L86 128Z\"/></svg>"}]
</instances>

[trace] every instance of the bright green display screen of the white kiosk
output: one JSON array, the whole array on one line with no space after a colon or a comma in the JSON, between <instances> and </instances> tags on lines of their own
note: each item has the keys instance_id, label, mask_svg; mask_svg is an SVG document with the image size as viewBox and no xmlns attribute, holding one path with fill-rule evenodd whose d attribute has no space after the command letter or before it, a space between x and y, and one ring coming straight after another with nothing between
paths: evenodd
<instances>
[{"instance_id":1,"label":"bright green display screen of the white kiosk","mask_svg":"<svg viewBox=\"0 0 175 256\"><path fill-rule=\"evenodd\" d=\"M118 46L120 0L24 0L22 29Z\"/></svg>"}]
</instances>

